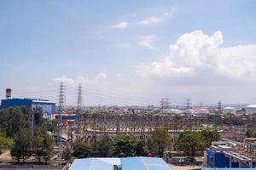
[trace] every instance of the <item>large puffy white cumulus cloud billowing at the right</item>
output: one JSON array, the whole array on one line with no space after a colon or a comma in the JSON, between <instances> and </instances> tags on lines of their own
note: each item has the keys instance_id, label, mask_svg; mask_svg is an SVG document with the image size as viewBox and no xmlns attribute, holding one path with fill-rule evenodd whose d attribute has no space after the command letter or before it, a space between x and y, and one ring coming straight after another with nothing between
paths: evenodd
<instances>
[{"instance_id":1,"label":"large puffy white cumulus cloud billowing at the right","mask_svg":"<svg viewBox=\"0 0 256 170\"><path fill-rule=\"evenodd\" d=\"M185 33L170 45L163 61L137 65L142 77L229 77L256 80L256 44L222 48L221 31L208 36L202 31Z\"/></svg>"}]
</instances>

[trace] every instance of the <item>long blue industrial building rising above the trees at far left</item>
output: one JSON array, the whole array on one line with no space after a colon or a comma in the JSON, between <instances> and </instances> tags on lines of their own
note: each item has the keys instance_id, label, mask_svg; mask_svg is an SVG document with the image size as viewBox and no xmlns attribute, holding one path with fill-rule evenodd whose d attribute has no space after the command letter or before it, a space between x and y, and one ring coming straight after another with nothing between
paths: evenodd
<instances>
[{"instance_id":1,"label":"long blue industrial building rising above the trees at far left","mask_svg":"<svg viewBox=\"0 0 256 170\"><path fill-rule=\"evenodd\" d=\"M16 106L25 106L28 108L40 108L44 117L50 118L51 114L55 112L55 103L44 99L2 99L1 108L9 108Z\"/></svg>"}]
</instances>

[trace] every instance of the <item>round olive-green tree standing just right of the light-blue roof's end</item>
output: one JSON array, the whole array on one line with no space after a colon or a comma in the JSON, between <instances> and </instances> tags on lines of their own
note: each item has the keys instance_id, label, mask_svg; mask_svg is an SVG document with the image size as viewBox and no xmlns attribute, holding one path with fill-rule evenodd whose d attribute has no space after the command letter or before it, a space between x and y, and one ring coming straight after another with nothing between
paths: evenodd
<instances>
[{"instance_id":1,"label":"round olive-green tree standing just right of the light-blue roof's end","mask_svg":"<svg viewBox=\"0 0 256 170\"><path fill-rule=\"evenodd\" d=\"M204 142L201 139L201 133L186 131L178 135L176 141L177 147L187 156L195 157L197 151L202 151L204 149Z\"/></svg>"}]
</instances>

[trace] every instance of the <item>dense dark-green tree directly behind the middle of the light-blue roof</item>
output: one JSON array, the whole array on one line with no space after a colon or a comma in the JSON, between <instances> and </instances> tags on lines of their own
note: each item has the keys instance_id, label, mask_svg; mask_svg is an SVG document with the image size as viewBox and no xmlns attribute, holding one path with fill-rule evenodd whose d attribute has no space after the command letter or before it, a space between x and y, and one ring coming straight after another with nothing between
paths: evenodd
<instances>
[{"instance_id":1,"label":"dense dark-green tree directly behind the middle of the light-blue roof","mask_svg":"<svg viewBox=\"0 0 256 170\"><path fill-rule=\"evenodd\" d=\"M136 156L137 139L131 135L116 136L113 139L113 156Z\"/></svg>"}]
</instances>

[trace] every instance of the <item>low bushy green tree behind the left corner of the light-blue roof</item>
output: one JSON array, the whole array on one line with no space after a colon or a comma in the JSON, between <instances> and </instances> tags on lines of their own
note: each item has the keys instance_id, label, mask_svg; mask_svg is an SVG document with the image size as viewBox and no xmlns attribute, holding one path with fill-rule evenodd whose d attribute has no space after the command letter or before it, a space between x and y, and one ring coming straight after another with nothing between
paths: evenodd
<instances>
[{"instance_id":1,"label":"low bushy green tree behind the left corner of the light-blue roof","mask_svg":"<svg viewBox=\"0 0 256 170\"><path fill-rule=\"evenodd\" d=\"M92 149L90 144L87 144L81 140L76 140L73 144L73 156L78 158L84 158L91 156Z\"/></svg>"}]
</instances>

